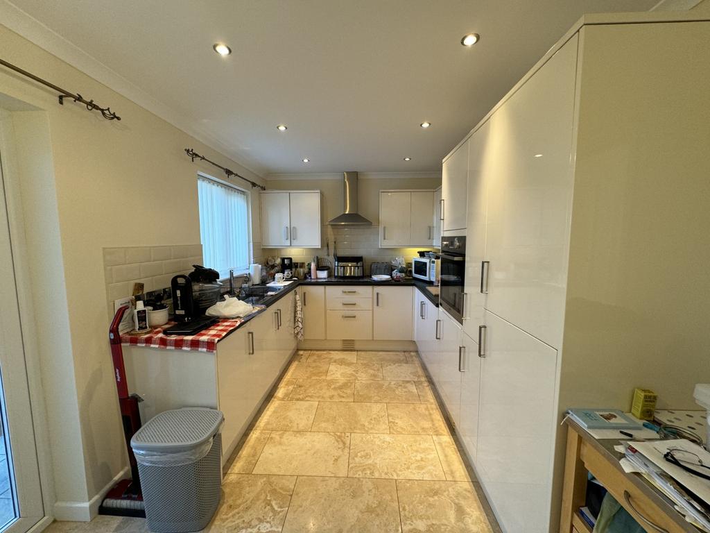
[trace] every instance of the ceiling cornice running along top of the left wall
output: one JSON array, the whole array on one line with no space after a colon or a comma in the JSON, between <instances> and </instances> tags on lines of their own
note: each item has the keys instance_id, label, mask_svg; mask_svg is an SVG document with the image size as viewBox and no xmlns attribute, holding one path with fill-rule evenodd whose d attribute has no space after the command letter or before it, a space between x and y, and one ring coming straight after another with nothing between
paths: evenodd
<instances>
[{"instance_id":1,"label":"ceiling cornice running along top of the left wall","mask_svg":"<svg viewBox=\"0 0 710 533\"><path fill-rule=\"evenodd\" d=\"M106 85L109 89L118 92L119 95L128 98L131 102L143 107L143 109L147 109L157 117L165 120L165 122L195 137L198 141L221 152L224 156L231 158L235 163L239 163L240 166L254 173L258 178L263 178L266 173L266 168L258 161L253 161L250 158L246 158L244 154L239 154L234 149L230 149L229 146L226 146L222 141L205 131L195 119L185 117L183 114L176 112L175 109L155 99L140 87L126 80L118 72L111 70L107 65L104 65L104 63L101 63L74 43L67 41L36 18L11 4L8 0L0 0L0 21L2 21L3 26L6 26L19 36L26 38L31 43L77 70L84 72L84 74Z\"/></svg>"}]
</instances>

